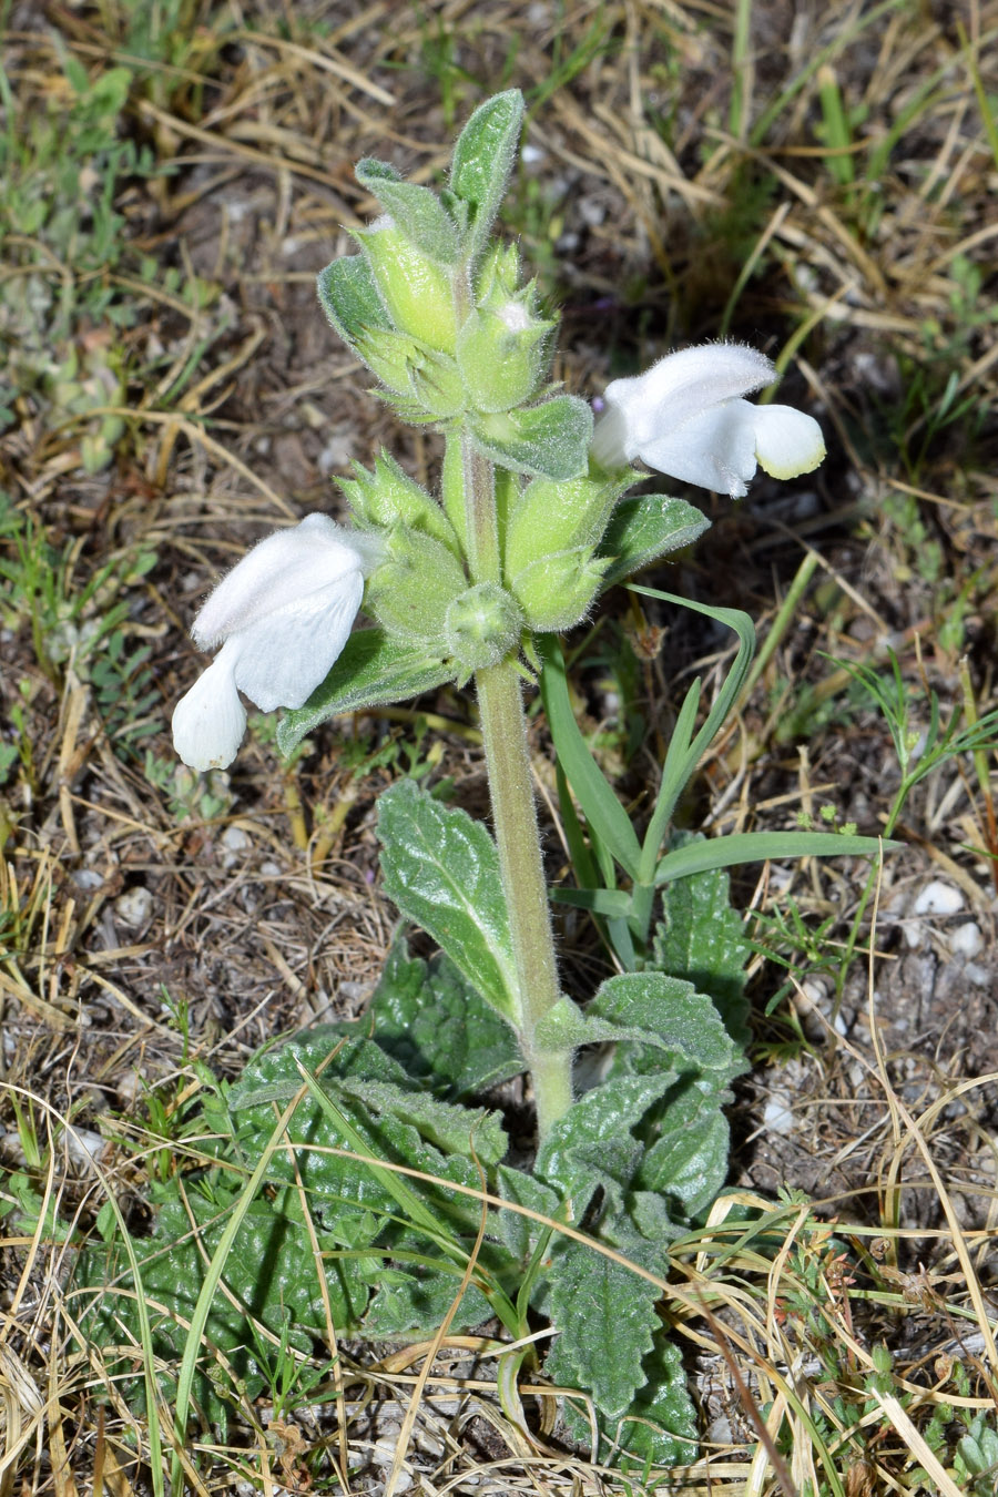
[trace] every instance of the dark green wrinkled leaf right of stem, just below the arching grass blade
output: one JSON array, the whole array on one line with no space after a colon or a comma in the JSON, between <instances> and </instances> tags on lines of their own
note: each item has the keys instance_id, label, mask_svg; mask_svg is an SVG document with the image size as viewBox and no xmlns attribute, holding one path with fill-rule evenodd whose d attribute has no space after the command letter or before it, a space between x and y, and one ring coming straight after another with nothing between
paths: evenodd
<instances>
[{"instance_id":1,"label":"dark green wrinkled leaf right of stem, just below the arching grass blade","mask_svg":"<svg viewBox=\"0 0 998 1497\"><path fill-rule=\"evenodd\" d=\"M684 837L684 843L690 838ZM750 1040L745 964L751 946L718 868L675 879L663 889L664 919L655 927L654 966L706 993L739 1045Z\"/></svg>"}]
</instances>

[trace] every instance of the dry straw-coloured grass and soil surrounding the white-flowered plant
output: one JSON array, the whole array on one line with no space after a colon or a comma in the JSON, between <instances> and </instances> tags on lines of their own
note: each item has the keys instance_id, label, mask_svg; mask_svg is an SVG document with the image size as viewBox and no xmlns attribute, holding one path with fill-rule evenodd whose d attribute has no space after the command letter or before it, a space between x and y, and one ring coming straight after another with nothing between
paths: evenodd
<instances>
[{"instance_id":1,"label":"dry straw-coloured grass and soil surrounding the white-flowered plant","mask_svg":"<svg viewBox=\"0 0 998 1497\"><path fill-rule=\"evenodd\" d=\"M162 1490L156 1431L114 1389L97 1397L102 1364L73 1337L75 1234L111 1199L139 1225L150 1178L198 1159L184 1127L200 1067L232 1076L274 1034L362 1009L394 921L374 805L405 754L483 805L468 707L447 695L422 704L428 737L414 714L376 714L284 769L262 728L209 784L175 769L165 732L196 669L186 624L220 567L275 522L335 509L329 476L380 443L432 472L432 439L364 395L314 311L314 272L371 210L356 159L429 181L483 91L518 84L531 150L507 223L564 305L567 385L594 392L610 367L723 329L766 344L820 412L832 458L815 491L718 509L670 582L765 620L805 549L820 558L706 766L700 820L765 826L824 801L862 829L883 819L896 780L883 722L841 711L847 683L829 692L820 651L863 663L892 644L913 698L926 681L944 702L961 699L965 656L979 711L994 705L994 3L376 0L278 15L229 0L165 9L159 36L157 15L18 4L4 42L18 139L48 112L72 162L67 52L91 82L127 70L111 135L148 154L120 163L123 223L93 263L79 246L106 153L84 150L79 193L37 139L7 174L30 183L40 159L76 238L10 211L0 271L16 376L0 433L0 554L16 572L0 582L0 747L18 746L0 759L0 1497ZM109 461L87 470L100 440ZM40 558L31 587L25 548ZM142 570L139 554L156 560ZM670 626L642 666L655 732L714 648ZM599 672L581 683L594 719L603 687ZM129 737L136 714L148 732ZM392 735L395 762L361 772ZM540 728L536 750L543 786ZM637 795L649 762L619 763ZM190 1490L994 1491L994 1472L971 1487L953 1466L961 1410L994 1428L998 1379L992 777L991 759L952 762L913 796L908 847L851 964L784 936L795 991L766 1018L760 958L732 1190L663 1286L703 1407L696 1466L624 1479L567 1455L542 1383L521 1386L518 1428L497 1347L446 1337L341 1347L293 1415L247 1404L227 1445L202 1430L178 1452ZM811 922L835 916L818 954L833 957L862 876L805 867L745 903L786 913L793 895ZM947 945L953 921L916 928L911 895L937 876L982 931L970 966ZM169 1410L160 1424L169 1460Z\"/></svg>"}]
</instances>

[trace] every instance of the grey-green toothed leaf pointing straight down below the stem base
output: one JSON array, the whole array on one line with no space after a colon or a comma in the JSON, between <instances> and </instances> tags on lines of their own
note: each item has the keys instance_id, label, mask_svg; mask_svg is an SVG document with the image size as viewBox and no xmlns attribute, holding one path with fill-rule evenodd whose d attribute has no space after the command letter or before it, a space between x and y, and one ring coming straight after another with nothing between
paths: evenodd
<instances>
[{"instance_id":1,"label":"grey-green toothed leaf pointing straight down below the stem base","mask_svg":"<svg viewBox=\"0 0 998 1497\"><path fill-rule=\"evenodd\" d=\"M661 1289L584 1243L563 1243L548 1269L558 1338L545 1371L581 1388L606 1419L619 1419L645 1383L642 1361L658 1329Z\"/></svg>"}]
</instances>

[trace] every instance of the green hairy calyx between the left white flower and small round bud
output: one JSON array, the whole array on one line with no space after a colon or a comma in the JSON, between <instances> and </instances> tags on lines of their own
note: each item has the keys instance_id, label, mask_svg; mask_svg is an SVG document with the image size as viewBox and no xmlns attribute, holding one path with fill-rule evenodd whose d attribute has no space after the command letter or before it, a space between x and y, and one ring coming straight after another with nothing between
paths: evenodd
<instances>
[{"instance_id":1,"label":"green hairy calyx between the left white flower and small round bud","mask_svg":"<svg viewBox=\"0 0 998 1497\"><path fill-rule=\"evenodd\" d=\"M385 561L371 573L365 612L407 644L438 648L446 615L468 585L455 554L420 530L399 525L385 546Z\"/></svg>"}]
</instances>

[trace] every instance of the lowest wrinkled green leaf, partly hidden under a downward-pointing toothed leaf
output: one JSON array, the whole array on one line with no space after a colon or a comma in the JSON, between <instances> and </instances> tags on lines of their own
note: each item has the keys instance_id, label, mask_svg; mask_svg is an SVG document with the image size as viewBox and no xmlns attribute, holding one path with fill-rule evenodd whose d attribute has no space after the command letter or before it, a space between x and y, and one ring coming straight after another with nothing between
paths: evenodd
<instances>
[{"instance_id":1,"label":"lowest wrinkled green leaf, partly hidden under a downward-pointing toothed leaf","mask_svg":"<svg viewBox=\"0 0 998 1497\"><path fill-rule=\"evenodd\" d=\"M697 1416L687 1391L679 1347L663 1332L655 1335L643 1371L645 1383L627 1413L619 1419L597 1418L597 1458L628 1467L636 1460L645 1470L649 1466L687 1466L696 1457ZM584 1406L566 1398L564 1422L569 1436L588 1449L593 1433Z\"/></svg>"}]
</instances>

